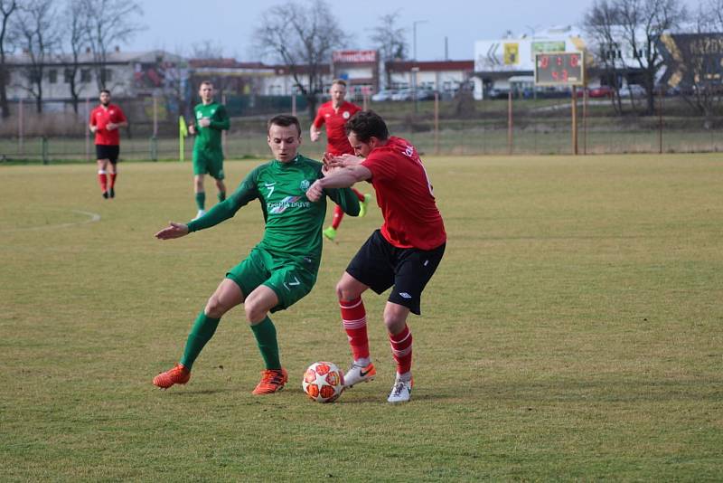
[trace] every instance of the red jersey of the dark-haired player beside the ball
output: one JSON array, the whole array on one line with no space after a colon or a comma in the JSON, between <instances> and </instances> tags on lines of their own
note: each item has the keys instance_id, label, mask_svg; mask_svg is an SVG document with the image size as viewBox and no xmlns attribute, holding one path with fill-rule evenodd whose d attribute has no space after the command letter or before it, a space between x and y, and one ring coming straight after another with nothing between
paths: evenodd
<instances>
[{"instance_id":1,"label":"red jersey of the dark-haired player beside the ball","mask_svg":"<svg viewBox=\"0 0 723 483\"><path fill-rule=\"evenodd\" d=\"M406 139L390 137L362 161L371 171L384 223L381 234L395 247L432 250L446 242L445 223L432 185L417 153Z\"/></svg>"}]
</instances>

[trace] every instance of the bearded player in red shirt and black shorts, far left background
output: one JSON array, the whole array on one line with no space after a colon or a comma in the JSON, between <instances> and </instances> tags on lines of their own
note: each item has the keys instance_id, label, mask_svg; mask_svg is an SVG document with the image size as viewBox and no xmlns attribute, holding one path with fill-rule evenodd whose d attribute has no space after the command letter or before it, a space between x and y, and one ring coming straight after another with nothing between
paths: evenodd
<instances>
[{"instance_id":1,"label":"bearded player in red shirt and black shorts, far left background","mask_svg":"<svg viewBox=\"0 0 723 483\"><path fill-rule=\"evenodd\" d=\"M98 159L98 180L104 198L116 197L117 162L120 152L118 128L128 125L123 109L110 103L110 91L100 91L100 105L90 112L90 132L96 135L96 159ZM108 164L110 184L108 185Z\"/></svg>"}]
</instances>

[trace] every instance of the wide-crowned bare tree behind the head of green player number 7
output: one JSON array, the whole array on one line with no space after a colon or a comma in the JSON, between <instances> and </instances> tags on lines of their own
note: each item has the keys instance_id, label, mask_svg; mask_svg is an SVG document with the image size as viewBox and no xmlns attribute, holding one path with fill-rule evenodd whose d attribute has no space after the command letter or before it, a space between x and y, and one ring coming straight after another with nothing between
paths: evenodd
<instances>
[{"instance_id":1,"label":"wide-crowned bare tree behind the head of green player number 7","mask_svg":"<svg viewBox=\"0 0 723 483\"><path fill-rule=\"evenodd\" d=\"M344 33L329 4L287 2L268 8L259 24L253 33L258 53L288 67L314 118L316 95L324 90L324 66L330 64L333 50L344 45Z\"/></svg>"}]
</instances>

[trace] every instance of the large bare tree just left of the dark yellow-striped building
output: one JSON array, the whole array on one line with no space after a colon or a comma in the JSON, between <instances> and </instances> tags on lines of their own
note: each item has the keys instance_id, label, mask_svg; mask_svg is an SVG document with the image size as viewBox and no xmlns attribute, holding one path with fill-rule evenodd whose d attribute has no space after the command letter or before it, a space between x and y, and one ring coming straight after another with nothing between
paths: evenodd
<instances>
[{"instance_id":1,"label":"large bare tree just left of the dark yellow-striped building","mask_svg":"<svg viewBox=\"0 0 723 483\"><path fill-rule=\"evenodd\" d=\"M655 78L664 61L655 48L658 39L679 27L688 17L681 0L615 0L624 43L632 49L636 67L643 72L647 113L655 107Z\"/></svg>"}]
</instances>

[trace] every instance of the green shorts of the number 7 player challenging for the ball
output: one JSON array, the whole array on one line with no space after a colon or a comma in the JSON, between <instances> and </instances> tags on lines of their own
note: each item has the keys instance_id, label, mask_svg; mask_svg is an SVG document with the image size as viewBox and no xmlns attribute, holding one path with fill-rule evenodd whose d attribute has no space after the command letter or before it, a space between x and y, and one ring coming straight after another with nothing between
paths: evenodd
<instances>
[{"instance_id":1,"label":"green shorts of the number 7 player challenging for the ball","mask_svg":"<svg viewBox=\"0 0 723 483\"><path fill-rule=\"evenodd\" d=\"M305 269L302 261L274 260L268 251L254 247L246 260L241 261L226 274L236 282L244 297L259 285L274 290L278 305L272 312L294 305L308 294L316 283L316 273Z\"/></svg>"}]
</instances>

